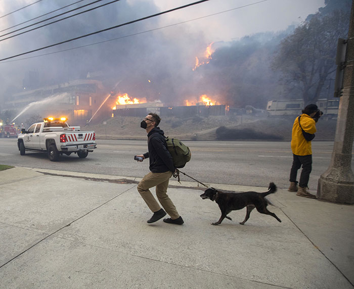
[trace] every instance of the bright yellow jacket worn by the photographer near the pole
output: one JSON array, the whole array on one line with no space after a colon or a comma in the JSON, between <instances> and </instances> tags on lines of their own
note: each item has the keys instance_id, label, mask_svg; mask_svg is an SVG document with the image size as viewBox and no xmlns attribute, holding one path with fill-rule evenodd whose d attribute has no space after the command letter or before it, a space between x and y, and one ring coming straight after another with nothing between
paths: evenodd
<instances>
[{"instance_id":1,"label":"bright yellow jacket worn by the photographer near the pole","mask_svg":"<svg viewBox=\"0 0 354 289\"><path fill-rule=\"evenodd\" d=\"M301 127L305 132L315 133L316 132L316 122L307 114L300 115ZM294 155L297 156L307 156L312 155L311 150L311 141L307 141L303 135L301 128L299 126L299 121L297 117L292 126L292 135L291 135L291 150Z\"/></svg>"}]
</instances>

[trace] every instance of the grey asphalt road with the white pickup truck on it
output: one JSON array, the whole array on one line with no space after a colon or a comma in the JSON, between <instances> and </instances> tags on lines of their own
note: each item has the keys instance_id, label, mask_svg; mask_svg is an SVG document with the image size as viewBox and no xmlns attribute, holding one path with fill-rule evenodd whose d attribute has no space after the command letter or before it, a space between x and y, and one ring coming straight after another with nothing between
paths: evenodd
<instances>
[{"instance_id":1,"label":"grey asphalt road with the white pickup truck on it","mask_svg":"<svg viewBox=\"0 0 354 289\"><path fill-rule=\"evenodd\" d=\"M201 182L267 187L274 181L288 186L292 163L290 142L278 141L185 141L192 160L181 171ZM0 164L143 177L148 162L134 161L134 155L147 152L147 142L139 140L97 140L98 148L85 159L77 155L62 156L59 162L49 161L46 153L26 152L21 156L17 139L0 138ZM317 189L320 175L330 164L333 142L314 141L313 171L310 190ZM191 179L182 176L182 180Z\"/></svg>"}]
</instances>

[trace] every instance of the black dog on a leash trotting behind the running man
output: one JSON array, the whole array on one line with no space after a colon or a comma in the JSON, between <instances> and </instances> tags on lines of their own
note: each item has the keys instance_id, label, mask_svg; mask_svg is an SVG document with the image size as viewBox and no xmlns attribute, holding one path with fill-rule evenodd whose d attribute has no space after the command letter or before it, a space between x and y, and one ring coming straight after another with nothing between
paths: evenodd
<instances>
[{"instance_id":1,"label":"black dog on a leash trotting behind the running man","mask_svg":"<svg viewBox=\"0 0 354 289\"><path fill-rule=\"evenodd\" d=\"M204 194L200 197L204 199L210 199L215 201L219 205L222 215L216 223L211 223L212 225L220 224L224 218L231 220L227 216L231 211L240 210L247 207L246 217L240 224L243 225L249 218L250 213L254 208L261 214L271 215L276 218L279 222L281 220L276 216L276 214L267 210L267 205L269 201L264 199L265 196L273 194L277 191L277 186L274 182L269 184L268 191L266 192L255 192L255 191L245 191L245 192L222 192L214 188L208 188L204 191Z\"/></svg>"}]
</instances>

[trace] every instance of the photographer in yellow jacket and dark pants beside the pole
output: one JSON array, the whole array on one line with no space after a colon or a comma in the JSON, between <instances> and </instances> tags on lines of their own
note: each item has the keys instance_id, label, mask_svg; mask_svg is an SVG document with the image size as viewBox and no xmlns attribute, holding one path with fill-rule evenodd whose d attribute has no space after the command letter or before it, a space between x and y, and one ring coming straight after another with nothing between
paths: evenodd
<instances>
[{"instance_id":1,"label":"photographer in yellow jacket and dark pants beside the pole","mask_svg":"<svg viewBox=\"0 0 354 289\"><path fill-rule=\"evenodd\" d=\"M315 199L316 196L307 190L309 175L312 170L312 149L311 139L315 137L316 122L321 117L322 112L317 105L310 104L302 110L292 127L291 150L293 153L293 163L290 170L289 191L296 191L296 196ZM308 140L306 140L306 138ZM297 186L297 171L302 165L299 185Z\"/></svg>"}]
</instances>

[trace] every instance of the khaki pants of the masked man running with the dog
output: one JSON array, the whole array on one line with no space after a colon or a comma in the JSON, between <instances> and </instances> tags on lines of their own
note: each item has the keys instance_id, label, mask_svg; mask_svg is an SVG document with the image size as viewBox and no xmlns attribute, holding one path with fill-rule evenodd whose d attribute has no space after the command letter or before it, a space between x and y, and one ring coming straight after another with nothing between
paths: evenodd
<instances>
[{"instance_id":1,"label":"khaki pants of the masked man running with the dog","mask_svg":"<svg viewBox=\"0 0 354 289\"><path fill-rule=\"evenodd\" d=\"M151 194L149 188L156 186L156 197L159 200L161 206L171 219L177 219L180 217L173 205L172 201L167 196L168 180L172 176L172 172L167 171L164 173L148 173L138 184L138 191L145 203L148 205L152 212L157 212L161 209L154 196Z\"/></svg>"}]
</instances>

